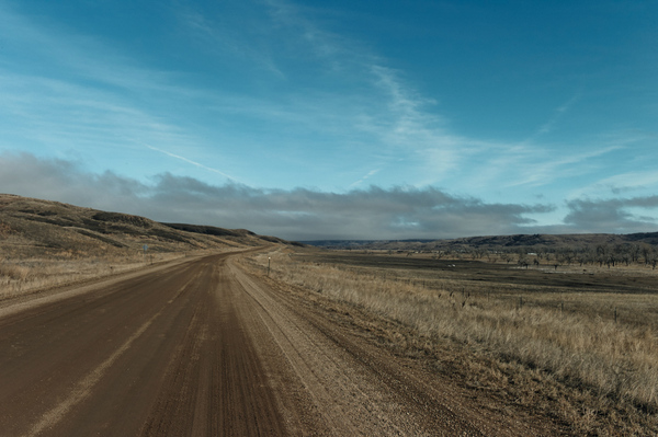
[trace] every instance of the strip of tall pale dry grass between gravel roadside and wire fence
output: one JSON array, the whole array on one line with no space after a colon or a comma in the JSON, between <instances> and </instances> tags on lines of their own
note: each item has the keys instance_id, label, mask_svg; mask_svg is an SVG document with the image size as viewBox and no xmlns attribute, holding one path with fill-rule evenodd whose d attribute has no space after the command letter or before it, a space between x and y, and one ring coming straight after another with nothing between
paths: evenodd
<instances>
[{"instance_id":1,"label":"strip of tall pale dry grass between gravel roadside and wire fence","mask_svg":"<svg viewBox=\"0 0 658 437\"><path fill-rule=\"evenodd\" d=\"M256 263L266 265L261 256ZM456 280L439 281L439 287L434 281L427 288L372 271L295 262L283 254L272 261L271 276L277 280L359 306L426 337L450 338L500 360L543 370L601 398L658 413L658 341L648 325L561 312L555 306L524 306L523 297L514 303L500 290L473 296L465 283ZM653 309L658 304L656 296L628 299L650 301L647 308Z\"/></svg>"}]
</instances>

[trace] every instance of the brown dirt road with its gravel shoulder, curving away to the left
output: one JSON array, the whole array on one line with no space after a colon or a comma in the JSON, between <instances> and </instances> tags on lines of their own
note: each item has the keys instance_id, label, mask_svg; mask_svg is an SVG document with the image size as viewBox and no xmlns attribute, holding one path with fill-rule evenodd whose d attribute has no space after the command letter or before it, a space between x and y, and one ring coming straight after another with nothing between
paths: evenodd
<instances>
[{"instance_id":1,"label":"brown dirt road with its gravel shoulder, curving away to the left","mask_svg":"<svg viewBox=\"0 0 658 437\"><path fill-rule=\"evenodd\" d=\"M521 436L235 254L0 302L0 436Z\"/></svg>"}]
</instances>

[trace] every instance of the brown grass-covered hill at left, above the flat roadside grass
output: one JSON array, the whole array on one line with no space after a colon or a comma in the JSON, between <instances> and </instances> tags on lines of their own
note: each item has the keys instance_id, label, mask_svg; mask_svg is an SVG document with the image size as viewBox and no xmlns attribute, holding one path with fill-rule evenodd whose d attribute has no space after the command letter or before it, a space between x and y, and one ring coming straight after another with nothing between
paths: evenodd
<instances>
[{"instance_id":1,"label":"brown grass-covered hill at left, above the flat roadside grass","mask_svg":"<svg viewBox=\"0 0 658 437\"><path fill-rule=\"evenodd\" d=\"M0 194L0 256L103 256L287 243L243 229L160 223L144 217Z\"/></svg>"}]
</instances>

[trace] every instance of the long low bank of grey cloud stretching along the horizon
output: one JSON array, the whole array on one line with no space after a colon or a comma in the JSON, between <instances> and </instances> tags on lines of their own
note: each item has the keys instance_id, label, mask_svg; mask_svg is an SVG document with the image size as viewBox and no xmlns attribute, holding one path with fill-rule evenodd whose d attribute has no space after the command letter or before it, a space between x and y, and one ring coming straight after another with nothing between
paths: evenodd
<instances>
[{"instance_id":1,"label":"long low bank of grey cloud stretching along the horizon","mask_svg":"<svg viewBox=\"0 0 658 437\"><path fill-rule=\"evenodd\" d=\"M656 229L656 220L627 208L657 208L658 196L571 200L563 223L540 227L527 215L552 205L488 204L427 187L372 186L348 193L306 188L209 185L193 177L158 174L144 182L79 163L29 153L0 154L0 192L145 216L158 221L245 228L291 240L441 239L511 233L614 232Z\"/></svg>"}]
</instances>

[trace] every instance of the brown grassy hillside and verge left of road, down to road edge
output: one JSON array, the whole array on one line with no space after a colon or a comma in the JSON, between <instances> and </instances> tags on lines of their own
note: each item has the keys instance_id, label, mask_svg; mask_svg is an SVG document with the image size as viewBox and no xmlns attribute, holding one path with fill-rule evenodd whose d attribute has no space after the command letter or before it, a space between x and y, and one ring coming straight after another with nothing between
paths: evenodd
<instances>
[{"instance_id":1,"label":"brown grassy hillside and verge left of road, down to road edge","mask_svg":"<svg viewBox=\"0 0 658 437\"><path fill-rule=\"evenodd\" d=\"M185 254L272 242L283 241L0 194L0 299Z\"/></svg>"}]
</instances>

